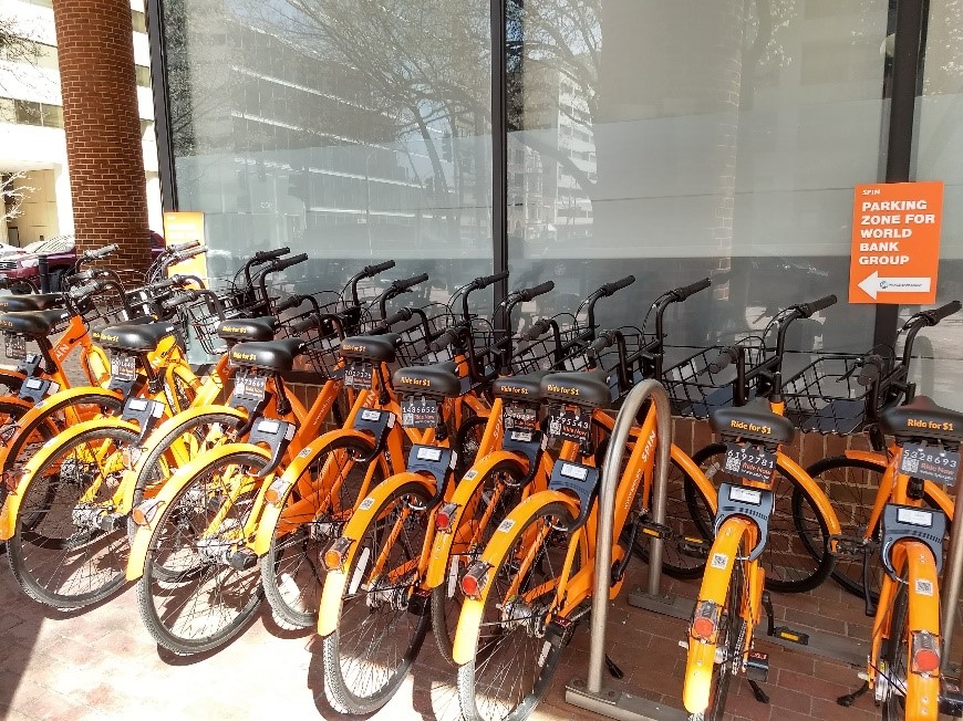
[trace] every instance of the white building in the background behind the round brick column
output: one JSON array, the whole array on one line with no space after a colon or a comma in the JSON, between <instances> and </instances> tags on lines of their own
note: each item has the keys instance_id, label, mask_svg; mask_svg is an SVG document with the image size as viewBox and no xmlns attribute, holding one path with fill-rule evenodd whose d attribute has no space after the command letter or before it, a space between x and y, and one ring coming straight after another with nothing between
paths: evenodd
<instances>
[{"instance_id":1,"label":"white building in the background behind the round brick column","mask_svg":"<svg viewBox=\"0 0 963 721\"><path fill-rule=\"evenodd\" d=\"M0 242L25 245L73 233L70 169L63 130L56 33L51 0L0 0L0 14L30 39L31 62L0 58L0 174L22 171L32 188L19 217L0 222ZM131 3L137 101L151 228L163 230L151 53L143 0ZM35 60L33 60L35 59Z\"/></svg>"}]
</instances>

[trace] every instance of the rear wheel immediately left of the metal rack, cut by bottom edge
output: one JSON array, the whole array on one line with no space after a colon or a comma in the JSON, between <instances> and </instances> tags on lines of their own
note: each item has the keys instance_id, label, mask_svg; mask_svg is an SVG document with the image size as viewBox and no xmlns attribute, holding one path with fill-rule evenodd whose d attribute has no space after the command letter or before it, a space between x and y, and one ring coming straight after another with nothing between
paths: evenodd
<instances>
[{"instance_id":1,"label":"rear wheel immediately left of the metal rack, cut by bottom edge","mask_svg":"<svg viewBox=\"0 0 963 721\"><path fill-rule=\"evenodd\" d=\"M562 645L546 640L546 619L542 614L553 600L557 584L552 584L552 581L561 573L571 540L568 534L552 529L570 524L572 520L568 505L547 503L524 525L511 529L514 539L510 540L508 553L498 566L489 570L488 583L494 584L494 587L488 592L480 615L475 655L470 661L458 667L458 701L466 721L521 721L548 691L558 668ZM540 524L543 534L539 530L529 531L536 523ZM558 543L555 534L563 535L565 543ZM510 588L518 571L512 567L519 557L516 548L525 548L532 535L542 537L543 542L532 554L534 561L520 582L519 591L540 588L542 593L539 597L547 599L549 606L539 610L531 607L522 609L515 605L516 597L503 596ZM528 554L529 551L525 550L524 553ZM516 609L531 613L527 617L517 616ZM510 625L505 623L503 613L512 614ZM486 628L491 629L487 635L482 633ZM517 634L519 630L521 633ZM493 667L493 661L500 663ZM527 668L529 666L531 668ZM507 681L510 688L498 686L499 681Z\"/></svg>"}]
</instances>

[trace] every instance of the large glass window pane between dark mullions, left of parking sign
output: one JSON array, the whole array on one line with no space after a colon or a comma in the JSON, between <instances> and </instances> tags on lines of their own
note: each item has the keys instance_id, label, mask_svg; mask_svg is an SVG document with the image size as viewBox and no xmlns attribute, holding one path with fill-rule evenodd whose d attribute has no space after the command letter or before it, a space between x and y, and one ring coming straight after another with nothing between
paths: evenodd
<instances>
[{"instance_id":1,"label":"large glass window pane between dark mullions, left of parking sign","mask_svg":"<svg viewBox=\"0 0 963 721\"><path fill-rule=\"evenodd\" d=\"M852 187L880 179L891 3L810 4L509 0L509 153L542 168L509 177L511 283L574 303L631 272L598 306L614 325L712 276L669 318L692 344L836 293L790 347L869 349L874 307L846 302Z\"/></svg>"}]
</instances>

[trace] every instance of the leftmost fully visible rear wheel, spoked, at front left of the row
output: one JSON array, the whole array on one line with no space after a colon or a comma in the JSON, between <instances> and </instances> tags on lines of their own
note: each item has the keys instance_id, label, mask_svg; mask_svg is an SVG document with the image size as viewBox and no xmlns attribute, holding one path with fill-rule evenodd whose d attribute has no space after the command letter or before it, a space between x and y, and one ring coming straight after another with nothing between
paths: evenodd
<instances>
[{"instance_id":1,"label":"leftmost fully visible rear wheel, spoked, at front left of the row","mask_svg":"<svg viewBox=\"0 0 963 721\"><path fill-rule=\"evenodd\" d=\"M124 585L126 536L117 529L95 527L95 519L97 512L114 511L110 501L125 470L122 447L136 440L137 433L125 428L91 428L62 443L37 469L7 555L17 583L38 603L83 608ZM106 447L103 464L86 460L107 442L113 450ZM95 495L81 503L94 485Z\"/></svg>"}]
</instances>

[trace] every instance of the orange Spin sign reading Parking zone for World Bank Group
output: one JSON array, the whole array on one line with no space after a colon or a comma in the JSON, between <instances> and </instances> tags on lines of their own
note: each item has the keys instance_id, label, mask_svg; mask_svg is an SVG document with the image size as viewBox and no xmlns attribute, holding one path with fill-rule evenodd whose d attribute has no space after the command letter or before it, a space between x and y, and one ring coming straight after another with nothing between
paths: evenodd
<instances>
[{"instance_id":1,"label":"orange Spin sign reading Parking zone for World Bank Group","mask_svg":"<svg viewBox=\"0 0 963 721\"><path fill-rule=\"evenodd\" d=\"M850 303L936 302L943 182L856 186Z\"/></svg>"}]
</instances>

